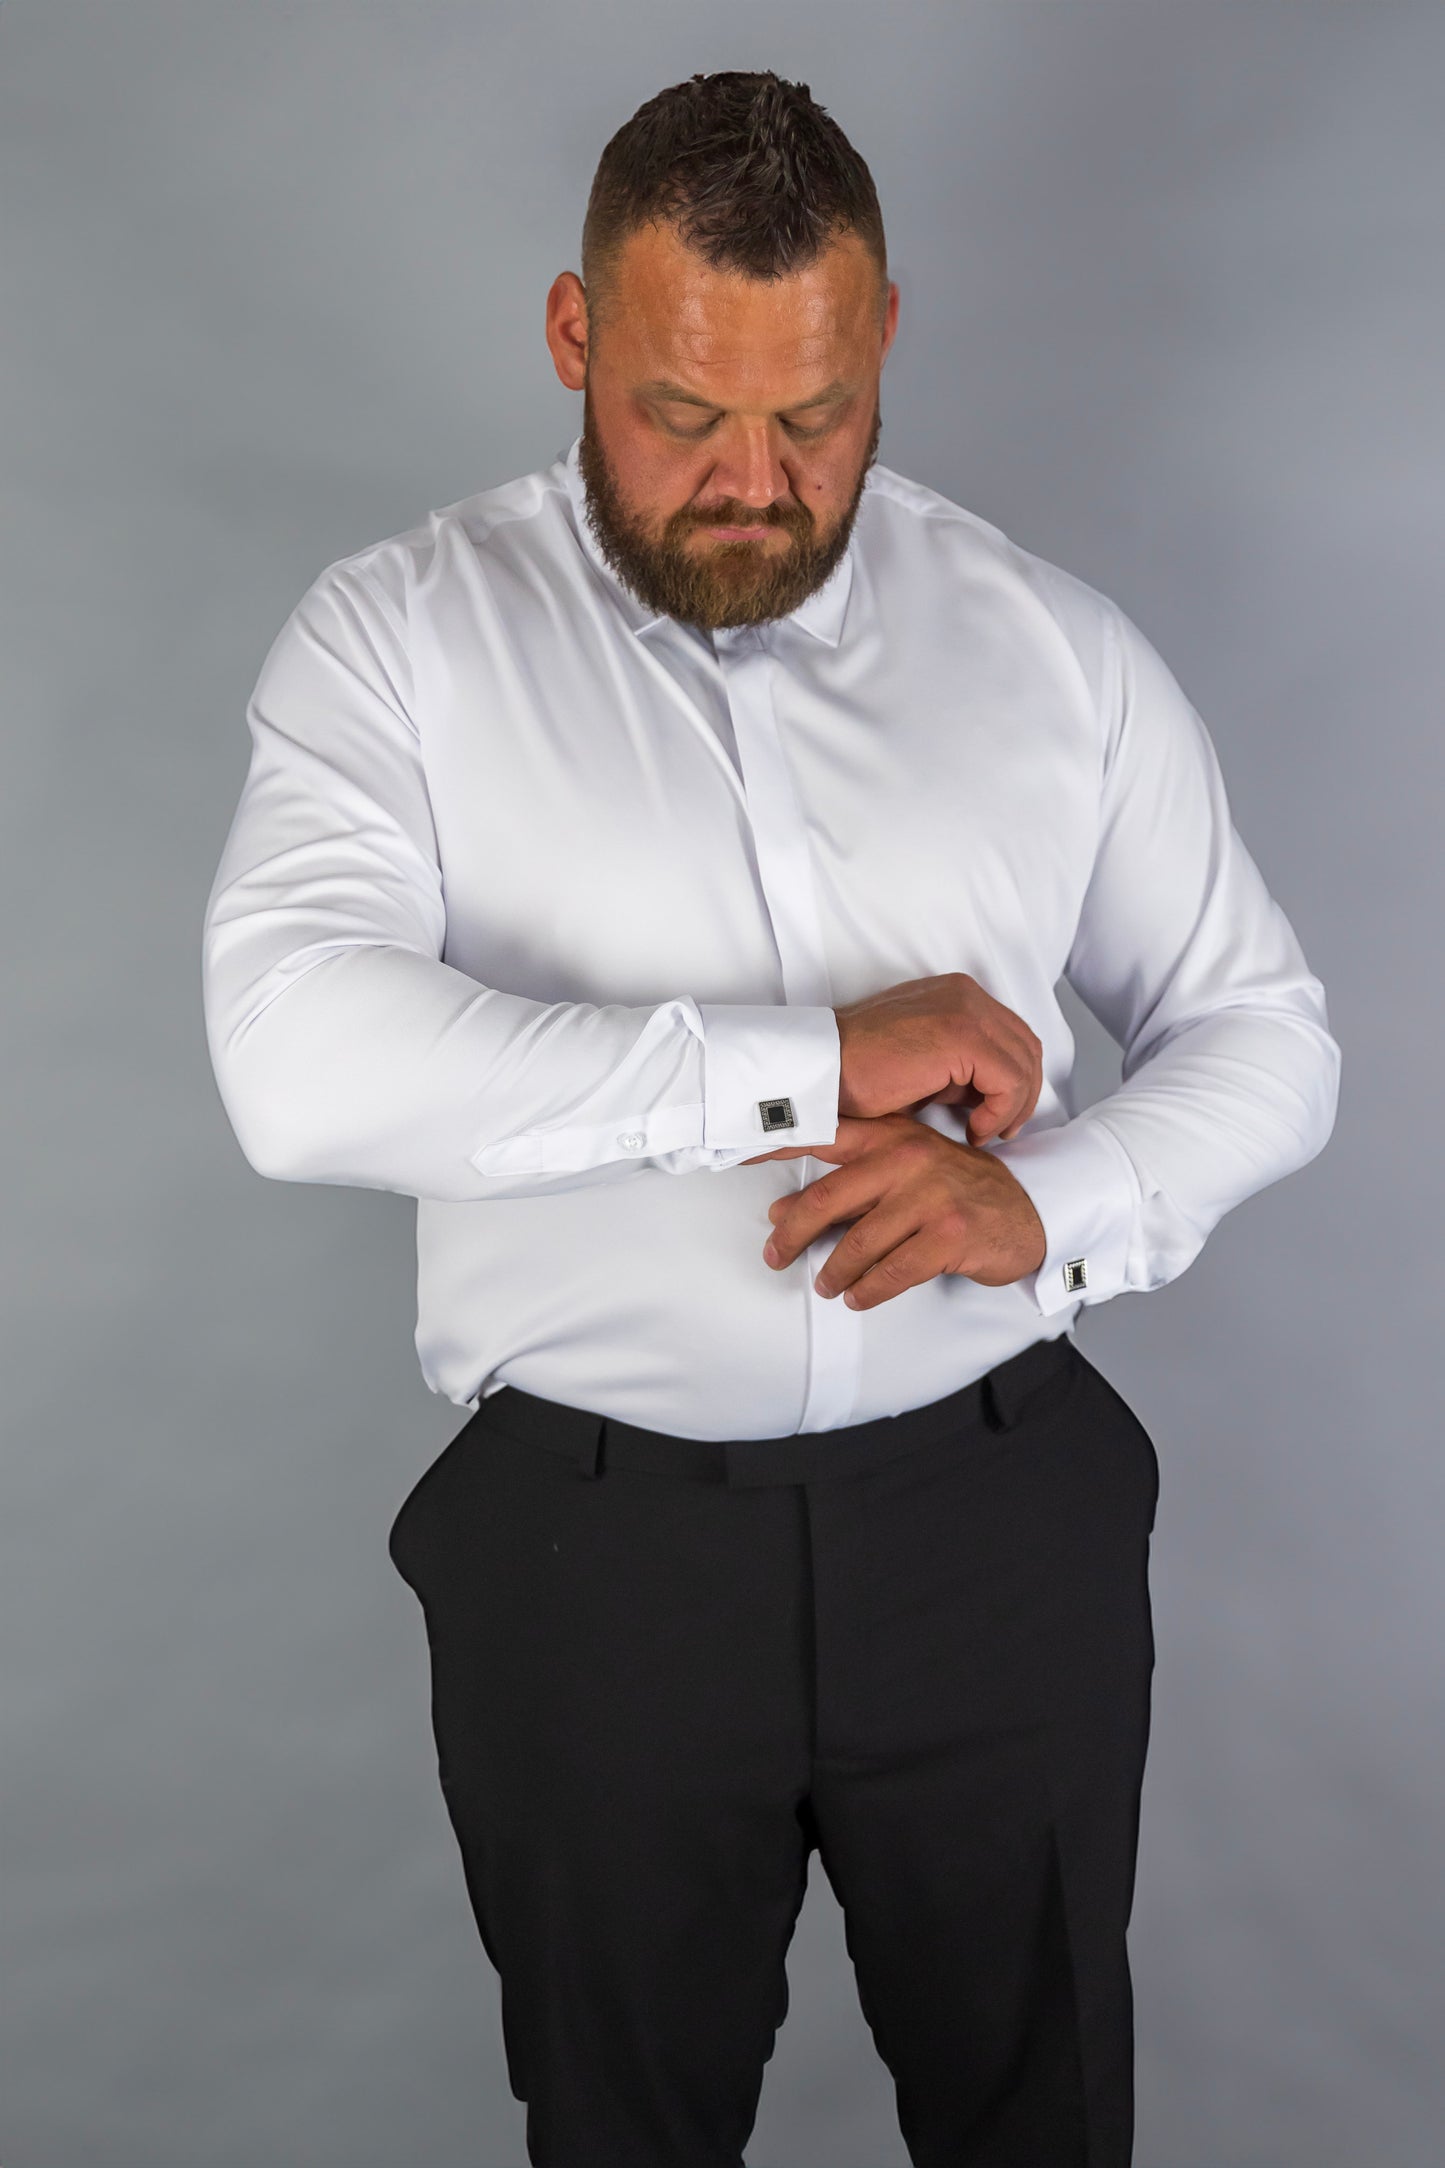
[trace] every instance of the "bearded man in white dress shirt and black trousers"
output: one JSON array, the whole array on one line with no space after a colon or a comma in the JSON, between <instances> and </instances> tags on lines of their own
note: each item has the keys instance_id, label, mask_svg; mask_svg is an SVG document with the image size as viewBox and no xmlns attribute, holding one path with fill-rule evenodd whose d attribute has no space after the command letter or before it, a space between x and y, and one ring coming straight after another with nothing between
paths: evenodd
<instances>
[{"instance_id":1,"label":"bearded man in white dress shirt and black trousers","mask_svg":"<svg viewBox=\"0 0 1445 2168\"><path fill-rule=\"evenodd\" d=\"M249 1162L418 1199L390 1552L548 2168L739 2168L815 1847L921 2168L1131 2159L1159 1466L1070 1329L1335 1121L1159 655L875 464L897 312L806 85L641 106L578 442L314 581L206 913Z\"/></svg>"}]
</instances>

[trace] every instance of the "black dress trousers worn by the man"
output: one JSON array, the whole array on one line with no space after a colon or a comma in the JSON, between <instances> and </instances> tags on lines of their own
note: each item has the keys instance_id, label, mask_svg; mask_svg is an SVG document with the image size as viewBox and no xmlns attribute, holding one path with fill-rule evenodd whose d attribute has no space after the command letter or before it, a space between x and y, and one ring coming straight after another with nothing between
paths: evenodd
<instances>
[{"instance_id":1,"label":"black dress trousers worn by the man","mask_svg":"<svg viewBox=\"0 0 1445 2168\"><path fill-rule=\"evenodd\" d=\"M737 1444L505 1388L390 1531L544 2168L741 2168L817 1847L914 2168L1127 2168L1155 1446L1072 1338Z\"/></svg>"}]
</instances>

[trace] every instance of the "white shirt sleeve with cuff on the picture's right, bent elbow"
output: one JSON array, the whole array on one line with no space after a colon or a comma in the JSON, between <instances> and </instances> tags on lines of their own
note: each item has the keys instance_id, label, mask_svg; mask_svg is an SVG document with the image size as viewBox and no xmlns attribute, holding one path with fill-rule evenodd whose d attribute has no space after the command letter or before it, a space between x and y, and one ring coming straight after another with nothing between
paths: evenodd
<instances>
[{"instance_id":1,"label":"white shirt sleeve with cuff on the picture's right, bent elbow","mask_svg":"<svg viewBox=\"0 0 1445 2168\"><path fill-rule=\"evenodd\" d=\"M1120 1045L1120 1086L984 1147L1044 1223L1018 1281L1044 1318L1176 1279L1233 1205L1324 1149L1339 1104L1324 986L1233 826L1209 733L1107 611L1098 850L1064 976Z\"/></svg>"}]
</instances>

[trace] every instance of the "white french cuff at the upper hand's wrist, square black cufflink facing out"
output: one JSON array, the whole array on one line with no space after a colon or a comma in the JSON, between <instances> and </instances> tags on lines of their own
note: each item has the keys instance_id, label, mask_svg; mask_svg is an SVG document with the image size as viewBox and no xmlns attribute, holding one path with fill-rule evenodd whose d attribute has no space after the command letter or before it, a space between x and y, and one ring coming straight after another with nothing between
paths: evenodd
<instances>
[{"instance_id":1,"label":"white french cuff at the upper hand's wrist, square black cufflink facing out","mask_svg":"<svg viewBox=\"0 0 1445 2168\"><path fill-rule=\"evenodd\" d=\"M700 1002L702 1143L713 1166L780 1145L832 1145L843 1049L832 1008Z\"/></svg>"}]
</instances>

